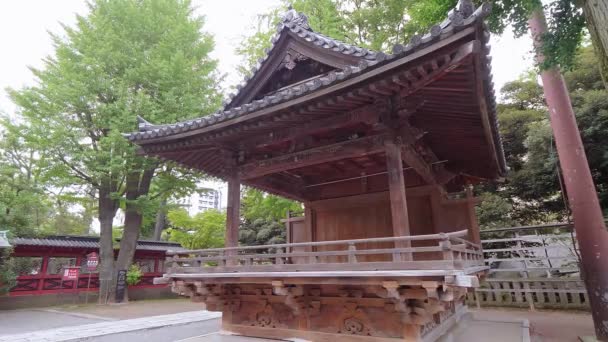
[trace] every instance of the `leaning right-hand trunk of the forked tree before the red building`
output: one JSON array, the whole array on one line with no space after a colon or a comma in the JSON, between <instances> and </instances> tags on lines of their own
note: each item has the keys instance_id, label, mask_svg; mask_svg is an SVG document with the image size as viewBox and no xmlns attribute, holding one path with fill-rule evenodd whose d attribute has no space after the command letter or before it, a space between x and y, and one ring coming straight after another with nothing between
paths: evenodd
<instances>
[{"instance_id":1,"label":"leaning right-hand trunk of the forked tree before the red building","mask_svg":"<svg viewBox=\"0 0 608 342\"><path fill-rule=\"evenodd\" d=\"M120 239L120 250L116 259L116 272L128 270L129 266L133 263L133 256L137 248L137 240L139 239L143 219L142 210L136 201L141 196L148 194L154 170L155 168L151 167L143 172L131 172L127 175L125 227ZM120 298L115 298L115 300L118 301ZM127 289L125 289L124 301L128 301Z\"/></svg>"}]
</instances>

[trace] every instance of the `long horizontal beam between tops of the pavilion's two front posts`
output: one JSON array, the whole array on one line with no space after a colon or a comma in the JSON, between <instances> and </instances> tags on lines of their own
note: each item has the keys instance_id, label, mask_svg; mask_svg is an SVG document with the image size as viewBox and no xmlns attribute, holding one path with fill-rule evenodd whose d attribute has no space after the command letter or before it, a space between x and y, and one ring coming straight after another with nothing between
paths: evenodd
<instances>
[{"instance_id":1,"label":"long horizontal beam between tops of the pavilion's two front posts","mask_svg":"<svg viewBox=\"0 0 608 342\"><path fill-rule=\"evenodd\" d=\"M373 135L289 153L274 158L254 160L239 168L239 177L248 180L271 173L378 153L383 150L383 141L386 137L385 134Z\"/></svg>"}]
</instances>

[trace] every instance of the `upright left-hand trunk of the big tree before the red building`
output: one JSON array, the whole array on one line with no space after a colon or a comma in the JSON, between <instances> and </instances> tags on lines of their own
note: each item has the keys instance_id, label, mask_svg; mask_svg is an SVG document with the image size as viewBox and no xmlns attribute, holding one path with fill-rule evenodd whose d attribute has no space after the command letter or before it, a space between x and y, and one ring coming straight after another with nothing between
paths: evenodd
<instances>
[{"instance_id":1,"label":"upright left-hand trunk of the big tree before the red building","mask_svg":"<svg viewBox=\"0 0 608 342\"><path fill-rule=\"evenodd\" d=\"M111 186L104 184L99 189L99 304L106 304L114 292L114 239L112 222L118 208L110 197Z\"/></svg>"}]
</instances>

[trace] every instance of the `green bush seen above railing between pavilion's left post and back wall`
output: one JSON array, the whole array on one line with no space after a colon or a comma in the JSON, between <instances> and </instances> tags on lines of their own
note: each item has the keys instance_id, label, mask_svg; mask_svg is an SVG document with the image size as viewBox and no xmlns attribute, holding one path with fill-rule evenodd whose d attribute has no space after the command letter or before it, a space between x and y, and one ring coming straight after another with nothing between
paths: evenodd
<instances>
[{"instance_id":1,"label":"green bush seen above railing between pavilion's left post and back wall","mask_svg":"<svg viewBox=\"0 0 608 342\"><path fill-rule=\"evenodd\" d=\"M244 246L272 245L286 242L285 225L258 218L245 220L239 227L239 243Z\"/></svg>"}]
</instances>

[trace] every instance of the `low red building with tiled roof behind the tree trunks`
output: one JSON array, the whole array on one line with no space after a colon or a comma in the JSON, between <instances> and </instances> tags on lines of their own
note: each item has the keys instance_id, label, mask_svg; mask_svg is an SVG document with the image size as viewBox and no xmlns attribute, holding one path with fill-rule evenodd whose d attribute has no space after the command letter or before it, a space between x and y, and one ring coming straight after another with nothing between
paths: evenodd
<instances>
[{"instance_id":1,"label":"low red building with tiled roof behind the tree trunks","mask_svg":"<svg viewBox=\"0 0 608 342\"><path fill-rule=\"evenodd\" d=\"M87 268L87 255L99 253L99 237L60 235L44 238L18 237L13 246L17 284L8 296L0 297L0 308L56 305L60 302L84 300L89 292L91 301L99 291L97 271ZM143 273L139 283L129 286L129 297L158 298L171 295L166 285L155 285L154 278L165 272L166 252L184 251L180 244L164 241L139 240L133 263ZM116 250L118 254L118 250ZM77 280L62 281L65 267L80 267Z\"/></svg>"}]
</instances>

